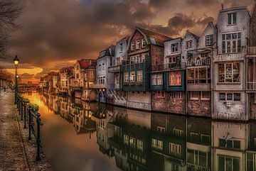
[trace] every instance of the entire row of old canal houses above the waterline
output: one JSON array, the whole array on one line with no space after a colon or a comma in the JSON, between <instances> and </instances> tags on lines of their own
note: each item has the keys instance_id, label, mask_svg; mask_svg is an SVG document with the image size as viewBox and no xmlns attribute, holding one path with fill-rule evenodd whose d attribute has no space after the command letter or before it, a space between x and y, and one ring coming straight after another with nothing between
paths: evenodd
<instances>
[{"instance_id":1,"label":"entire row of old canal houses above the waterline","mask_svg":"<svg viewBox=\"0 0 256 171\"><path fill-rule=\"evenodd\" d=\"M255 119L255 16L246 6L221 9L201 36L183 38L137 27L96 61L61 69L58 92L132 109ZM46 77L42 87L44 80L50 87Z\"/></svg>"}]
</instances>

